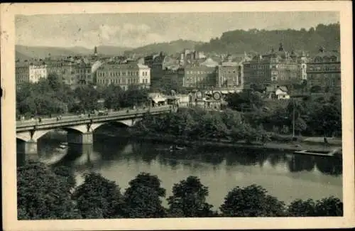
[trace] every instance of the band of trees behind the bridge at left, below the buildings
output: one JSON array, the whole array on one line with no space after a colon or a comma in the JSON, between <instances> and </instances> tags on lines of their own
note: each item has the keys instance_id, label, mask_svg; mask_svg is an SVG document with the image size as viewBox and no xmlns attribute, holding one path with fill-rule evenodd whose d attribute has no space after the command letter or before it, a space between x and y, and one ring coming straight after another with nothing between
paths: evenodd
<instances>
[{"instance_id":1,"label":"band of trees behind the bridge at left, below the buildings","mask_svg":"<svg viewBox=\"0 0 355 231\"><path fill-rule=\"evenodd\" d=\"M89 113L102 108L132 107L147 101L148 90L138 86L132 85L125 91L115 85L79 85L73 90L60 81L58 75L50 73L46 79L17 86L16 115L48 117L50 114Z\"/></svg>"}]
</instances>

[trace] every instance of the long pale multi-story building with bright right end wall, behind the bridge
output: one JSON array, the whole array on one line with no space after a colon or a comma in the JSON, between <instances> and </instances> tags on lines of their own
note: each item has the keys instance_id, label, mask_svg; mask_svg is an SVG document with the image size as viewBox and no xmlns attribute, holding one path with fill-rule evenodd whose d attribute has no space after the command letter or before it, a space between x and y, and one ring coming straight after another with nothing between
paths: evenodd
<instances>
[{"instance_id":1,"label":"long pale multi-story building with bright right end wall, behind the bridge","mask_svg":"<svg viewBox=\"0 0 355 231\"><path fill-rule=\"evenodd\" d=\"M97 85L119 85L128 90L130 85L148 88L151 71L146 65L136 62L104 63L97 69Z\"/></svg>"}]
</instances>

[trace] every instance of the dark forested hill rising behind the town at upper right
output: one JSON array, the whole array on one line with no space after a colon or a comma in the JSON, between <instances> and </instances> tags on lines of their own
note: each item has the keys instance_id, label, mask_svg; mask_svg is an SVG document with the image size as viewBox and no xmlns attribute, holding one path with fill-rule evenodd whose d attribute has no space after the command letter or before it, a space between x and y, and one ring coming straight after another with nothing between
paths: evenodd
<instances>
[{"instance_id":1,"label":"dark forested hill rising behind the town at upper right","mask_svg":"<svg viewBox=\"0 0 355 231\"><path fill-rule=\"evenodd\" d=\"M320 24L315 28L302 28L299 31L228 31L223 33L221 38L212 38L209 43L196 45L195 48L207 53L266 53L272 47L277 50L279 43L283 43L285 50L307 50L311 55L317 53L320 45L326 50L339 50L340 24Z\"/></svg>"}]
</instances>

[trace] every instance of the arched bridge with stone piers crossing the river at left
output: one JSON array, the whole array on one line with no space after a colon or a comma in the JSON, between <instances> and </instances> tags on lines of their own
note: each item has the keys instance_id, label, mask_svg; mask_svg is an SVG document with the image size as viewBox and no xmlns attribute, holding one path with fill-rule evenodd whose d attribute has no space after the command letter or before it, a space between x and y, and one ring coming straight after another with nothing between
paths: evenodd
<instances>
[{"instance_id":1,"label":"arched bridge with stone piers crossing the river at left","mask_svg":"<svg viewBox=\"0 0 355 231\"><path fill-rule=\"evenodd\" d=\"M67 131L68 144L92 144L92 132L102 124L116 122L133 126L142 119L143 114L150 112L153 115L170 113L175 110L170 105L151 107L147 109L124 109L116 112L109 112L107 115L75 115L57 118L30 119L16 122L16 144L19 153L37 153L37 140L54 129Z\"/></svg>"}]
</instances>

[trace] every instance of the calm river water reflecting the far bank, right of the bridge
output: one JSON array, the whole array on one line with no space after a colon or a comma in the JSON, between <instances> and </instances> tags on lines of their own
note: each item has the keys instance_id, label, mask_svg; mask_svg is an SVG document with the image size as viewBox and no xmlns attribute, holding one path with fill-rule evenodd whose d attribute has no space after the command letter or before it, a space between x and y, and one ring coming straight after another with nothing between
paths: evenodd
<instances>
[{"instance_id":1,"label":"calm river water reflecting the far bank, right of the bridge","mask_svg":"<svg viewBox=\"0 0 355 231\"><path fill-rule=\"evenodd\" d=\"M124 191L138 173L146 172L160 178L168 197L174 183L197 176L208 186L207 201L214 209L229 190L251 184L263 186L285 203L331 195L342 200L342 161L338 159L230 148L187 147L170 152L170 144L99 134L94 135L92 146L58 151L59 144L58 140L40 139L38 156L47 162L64 156L55 165L72 168L77 183L82 183L82 173L95 171L116 181ZM163 204L167 205L165 200Z\"/></svg>"}]
</instances>

